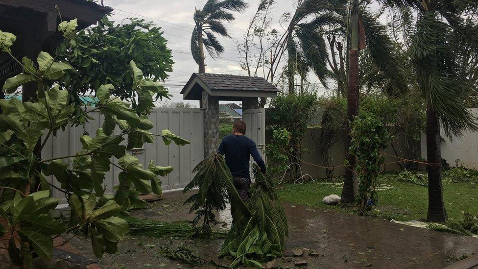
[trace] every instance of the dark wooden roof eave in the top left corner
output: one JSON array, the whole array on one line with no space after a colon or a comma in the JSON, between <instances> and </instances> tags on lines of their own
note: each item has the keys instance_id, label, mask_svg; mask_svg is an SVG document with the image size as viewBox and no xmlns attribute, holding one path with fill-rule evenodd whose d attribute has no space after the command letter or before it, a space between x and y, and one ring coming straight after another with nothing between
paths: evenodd
<instances>
[{"instance_id":1,"label":"dark wooden roof eave in the top left corner","mask_svg":"<svg viewBox=\"0 0 478 269\"><path fill-rule=\"evenodd\" d=\"M96 24L112 10L88 0L0 0L0 30L17 36L11 47L13 55L34 59L42 50L52 52L62 40L57 30L61 20L77 19L82 29ZM0 53L0 82L21 72L18 63Z\"/></svg>"}]
</instances>

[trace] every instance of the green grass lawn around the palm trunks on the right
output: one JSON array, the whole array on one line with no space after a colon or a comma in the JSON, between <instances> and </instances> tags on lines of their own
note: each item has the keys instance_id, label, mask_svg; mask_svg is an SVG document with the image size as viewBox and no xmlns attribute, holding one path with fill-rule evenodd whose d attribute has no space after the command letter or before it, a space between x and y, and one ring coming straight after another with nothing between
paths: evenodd
<instances>
[{"instance_id":1,"label":"green grass lawn around the palm trunks on the right","mask_svg":"<svg viewBox=\"0 0 478 269\"><path fill-rule=\"evenodd\" d=\"M392 189L378 191L377 207L369 216L386 220L425 220L428 209L428 189L420 185L395 180L381 180L380 183L393 186ZM320 207L341 212L357 212L353 207L331 206L322 203L322 198L331 194L340 196L341 188L331 184L304 183L286 184L280 191L283 201ZM478 210L478 184L443 183L445 208L450 219L461 219L462 210Z\"/></svg>"}]
</instances>

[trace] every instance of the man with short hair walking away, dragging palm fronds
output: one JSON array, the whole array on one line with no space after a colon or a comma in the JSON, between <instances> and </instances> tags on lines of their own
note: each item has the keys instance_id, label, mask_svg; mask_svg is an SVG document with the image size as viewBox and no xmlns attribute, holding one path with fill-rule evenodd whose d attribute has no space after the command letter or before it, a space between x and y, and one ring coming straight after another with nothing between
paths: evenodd
<instances>
[{"instance_id":1,"label":"man with short hair walking away, dragging palm fronds","mask_svg":"<svg viewBox=\"0 0 478 269\"><path fill-rule=\"evenodd\" d=\"M249 186L251 184L251 175L249 173L249 156L252 156L261 172L265 173L265 163L257 150L256 143L245 136L246 123L243 121L234 122L233 133L222 139L217 152L224 155L226 165L232 173L234 187L238 190L240 198L245 201L250 197ZM233 223L237 205L231 203L231 215Z\"/></svg>"}]
</instances>

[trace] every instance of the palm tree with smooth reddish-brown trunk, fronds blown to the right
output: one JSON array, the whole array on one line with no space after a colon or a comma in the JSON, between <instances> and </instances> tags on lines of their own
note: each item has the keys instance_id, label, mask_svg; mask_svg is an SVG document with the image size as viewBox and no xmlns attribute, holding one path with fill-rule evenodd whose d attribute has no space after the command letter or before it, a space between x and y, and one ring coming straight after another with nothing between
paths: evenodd
<instances>
[{"instance_id":1,"label":"palm tree with smooth reddish-brown trunk, fronds blown to the right","mask_svg":"<svg viewBox=\"0 0 478 269\"><path fill-rule=\"evenodd\" d=\"M372 81L359 81L360 62L367 62L367 70L380 77L380 84L386 84L387 94L401 94L408 90L406 84L405 63L396 51L396 44L387 34L385 25L379 23L379 15L371 13L367 6L360 7L358 0L351 1L348 48L348 83L347 83L347 119L350 124L358 115L360 84L374 84ZM364 49L362 53L360 50ZM384 90L384 89L383 89ZM350 130L350 126L348 126ZM347 136L346 148L350 146L351 137ZM357 192L357 179L354 178L355 156L347 154L348 167L345 170L342 202L353 202Z\"/></svg>"}]
</instances>

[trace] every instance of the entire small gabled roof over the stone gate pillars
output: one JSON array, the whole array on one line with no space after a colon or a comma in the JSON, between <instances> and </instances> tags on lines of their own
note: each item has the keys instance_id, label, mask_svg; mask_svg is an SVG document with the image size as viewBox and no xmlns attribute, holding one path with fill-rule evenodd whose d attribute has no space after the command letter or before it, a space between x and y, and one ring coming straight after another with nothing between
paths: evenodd
<instances>
[{"instance_id":1,"label":"entire small gabled roof over the stone gate pillars","mask_svg":"<svg viewBox=\"0 0 478 269\"><path fill-rule=\"evenodd\" d=\"M241 100L242 98L276 97L279 90L262 77L193 73L181 90L186 100L199 100L206 91L219 100Z\"/></svg>"}]
</instances>

